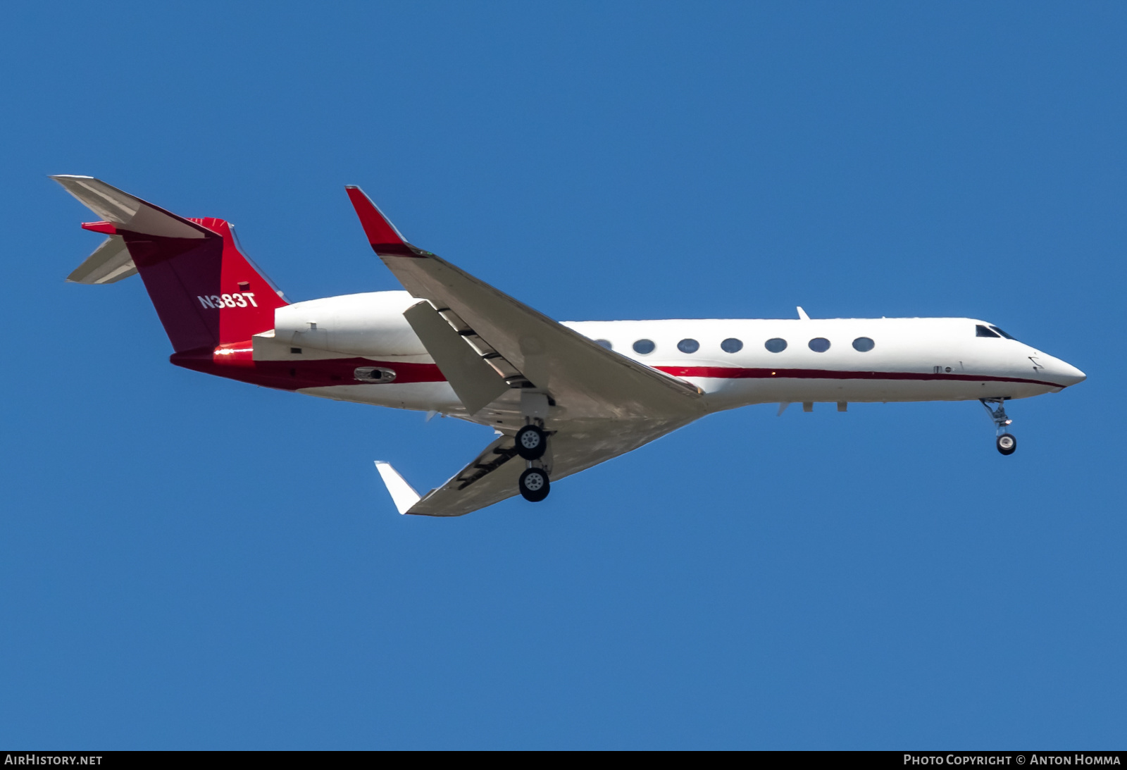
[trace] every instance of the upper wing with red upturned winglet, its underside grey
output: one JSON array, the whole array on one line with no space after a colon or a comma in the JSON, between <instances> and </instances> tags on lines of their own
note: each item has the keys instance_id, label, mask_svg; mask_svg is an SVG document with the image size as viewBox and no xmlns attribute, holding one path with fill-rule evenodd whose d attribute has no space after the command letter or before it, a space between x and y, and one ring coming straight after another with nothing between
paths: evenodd
<instances>
[{"instance_id":1,"label":"upper wing with red upturned winglet, its underside grey","mask_svg":"<svg viewBox=\"0 0 1127 770\"><path fill-rule=\"evenodd\" d=\"M358 187L347 189L369 242L403 287L429 300L440 313L453 311L468 327L459 334L471 342L485 340L492 351L489 355L500 356L535 388L549 392L567 419L703 414L695 386L609 351L411 246Z\"/></svg>"}]
</instances>

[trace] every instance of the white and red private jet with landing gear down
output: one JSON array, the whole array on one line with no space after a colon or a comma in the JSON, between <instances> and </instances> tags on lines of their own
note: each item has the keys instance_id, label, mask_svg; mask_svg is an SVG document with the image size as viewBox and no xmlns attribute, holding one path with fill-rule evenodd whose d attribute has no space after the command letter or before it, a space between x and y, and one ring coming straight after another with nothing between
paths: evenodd
<instances>
[{"instance_id":1,"label":"white and red private jet with landing gear down","mask_svg":"<svg viewBox=\"0 0 1127 770\"><path fill-rule=\"evenodd\" d=\"M556 321L407 241L355 186L367 242L403 291L289 302L231 224L183 218L87 176L52 177L106 239L68 281L140 274L185 369L343 401L486 425L495 437L419 495L375 467L399 513L459 516L752 404L974 401L995 445L1018 442L1006 401L1085 379L975 318Z\"/></svg>"}]
</instances>

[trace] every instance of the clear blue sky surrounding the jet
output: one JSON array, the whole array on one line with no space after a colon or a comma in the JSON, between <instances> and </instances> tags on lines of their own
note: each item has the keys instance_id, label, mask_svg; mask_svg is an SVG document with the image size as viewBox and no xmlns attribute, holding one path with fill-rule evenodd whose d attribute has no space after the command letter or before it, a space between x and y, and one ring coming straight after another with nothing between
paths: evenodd
<instances>
[{"instance_id":1,"label":"clear blue sky surrounding the jet","mask_svg":"<svg viewBox=\"0 0 1127 770\"><path fill-rule=\"evenodd\" d=\"M1117 3L6 11L0 744L1127 738ZM561 320L971 316L1013 404L716 415L456 520L483 428L207 378L48 174L222 216L292 299L415 244Z\"/></svg>"}]
</instances>

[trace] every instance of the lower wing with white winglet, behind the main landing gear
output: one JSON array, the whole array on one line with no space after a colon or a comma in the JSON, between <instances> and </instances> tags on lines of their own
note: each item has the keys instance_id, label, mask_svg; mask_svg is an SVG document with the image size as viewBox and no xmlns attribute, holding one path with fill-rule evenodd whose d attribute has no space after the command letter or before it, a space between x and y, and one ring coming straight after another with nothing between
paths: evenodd
<instances>
[{"instance_id":1,"label":"lower wing with white winglet, behind the main landing gear","mask_svg":"<svg viewBox=\"0 0 1127 770\"><path fill-rule=\"evenodd\" d=\"M543 464L556 481L638 449L690 422L692 418L567 422L561 431L552 434ZM387 468L390 470L390 466ZM525 462L516 453L513 436L498 436L473 462L406 510L400 488L406 486L406 481L398 473L389 475L384 467L380 467L380 473L400 513L461 516L516 495L517 477L524 468ZM410 501L411 497L408 496L407 499Z\"/></svg>"}]
</instances>

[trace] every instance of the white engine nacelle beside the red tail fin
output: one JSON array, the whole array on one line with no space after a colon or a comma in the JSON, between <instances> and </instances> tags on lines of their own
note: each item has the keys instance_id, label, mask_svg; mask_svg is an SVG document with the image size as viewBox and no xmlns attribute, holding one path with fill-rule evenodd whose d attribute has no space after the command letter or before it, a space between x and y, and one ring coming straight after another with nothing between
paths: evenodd
<instances>
[{"instance_id":1,"label":"white engine nacelle beside the red tail fin","mask_svg":"<svg viewBox=\"0 0 1127 770\"><path fill-rule=\"evenodd\" d=\"M370 357L425 355L403 311L419 302L405 291L343 294L274 311L274 338L294 347Z\"/></svg>"}]
</instances>

